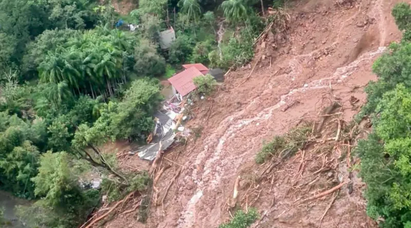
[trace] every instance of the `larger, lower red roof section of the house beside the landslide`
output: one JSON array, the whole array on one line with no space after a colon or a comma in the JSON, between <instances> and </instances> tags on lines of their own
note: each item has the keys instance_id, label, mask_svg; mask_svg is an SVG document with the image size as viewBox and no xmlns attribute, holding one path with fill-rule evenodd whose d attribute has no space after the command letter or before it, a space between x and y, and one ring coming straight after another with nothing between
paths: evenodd
<instances>
[{"instance_id":1,"label":"larger, lower red roof section of the house beside the landslide","mask_svg":"<svg viewBox=\"0 0 411 228\"><path fill-rule=\"evenodd\" d=\"M169 81L181 96L185 96L196 89L193 78L202 75L196 67L191 67L169 78Z\"/></svg>"}]
</instances>

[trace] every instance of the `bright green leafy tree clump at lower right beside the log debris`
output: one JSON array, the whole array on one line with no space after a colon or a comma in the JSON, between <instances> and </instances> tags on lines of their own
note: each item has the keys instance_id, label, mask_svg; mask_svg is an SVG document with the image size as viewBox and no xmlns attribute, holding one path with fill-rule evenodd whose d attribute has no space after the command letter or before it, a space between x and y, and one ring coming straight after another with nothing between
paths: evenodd
<instances>
[{"instance_id":1,"label":"bright green leafy tree clump at lower right beside the log debris","mask_svg":"<svg viewBox=\"0 0 411 228\"><path fill-rule=\"evenodd\" d=\"M383 227L404 227L411 222L410 154L411 93L403 85L383 95L375 117L375 132L359 142L360 175L367 183L365 193L370 217L385 219Z\"/></svg>"}]
</instances>

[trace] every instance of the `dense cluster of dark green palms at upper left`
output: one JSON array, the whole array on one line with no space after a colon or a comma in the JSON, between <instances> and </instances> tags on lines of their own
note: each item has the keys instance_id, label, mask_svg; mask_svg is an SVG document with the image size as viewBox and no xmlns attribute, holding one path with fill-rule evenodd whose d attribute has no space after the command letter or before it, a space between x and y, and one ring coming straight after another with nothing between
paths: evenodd
<instances>
[{"instance_id":1,"label":"dense cluster of dark green palms at upper left","mask_svg":"<svg viewBox=\"0 0 411 228\"><path fill-rule=\"evenodd\" d=\"M132 50L134 41L118 30L100 27L87 31L68 39L67 48L49 51L39 65L40 78L73 95L114 96L120 82L124 82L123 55Z\"/></svg>"}]
</instances>

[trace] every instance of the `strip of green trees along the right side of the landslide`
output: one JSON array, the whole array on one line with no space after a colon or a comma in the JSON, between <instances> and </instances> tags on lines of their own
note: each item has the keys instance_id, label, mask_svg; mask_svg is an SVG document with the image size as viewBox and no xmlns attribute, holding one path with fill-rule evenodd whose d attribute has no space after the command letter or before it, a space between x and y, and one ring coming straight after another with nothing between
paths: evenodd
<instances>
[{"instance_id":1,"label":"strip of green trees along the right side of the landslide","mask_svg":"<svg viewBox=\"0 0 411 228\"><path fill-rule=\"evenodd\" d=\"M384 228L411 227L411 9L397 4L392 14L403 31L400 43L378 58L379 80L366 87L373 131L359 142L360 176L367 184L367 214Z\"/></svg>"}]
</instances>

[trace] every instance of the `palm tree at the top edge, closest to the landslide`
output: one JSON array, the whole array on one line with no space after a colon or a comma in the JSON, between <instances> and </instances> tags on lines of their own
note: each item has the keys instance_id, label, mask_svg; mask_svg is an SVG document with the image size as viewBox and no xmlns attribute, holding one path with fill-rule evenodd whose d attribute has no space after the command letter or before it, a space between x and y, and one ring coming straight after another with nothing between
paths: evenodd
<instances>
[{"instance_id":1,"label":"palm tree at the top edge, closest to the landslide","mask_svg":"<svg viewBox=\"0 0 411 228\"><path fill-rule=\"evenodd\" d=\"M220 6L228 22L240 22L248 17L247 0L226 0Z\"/></svg>"}]
</instances>

